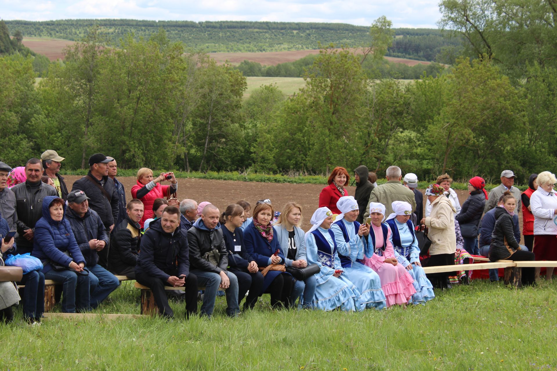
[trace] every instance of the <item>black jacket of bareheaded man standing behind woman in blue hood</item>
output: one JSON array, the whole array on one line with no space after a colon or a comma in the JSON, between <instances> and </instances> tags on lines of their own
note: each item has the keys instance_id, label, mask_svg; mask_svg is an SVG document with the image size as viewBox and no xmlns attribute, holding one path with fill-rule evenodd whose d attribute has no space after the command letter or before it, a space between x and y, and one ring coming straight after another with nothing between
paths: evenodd
<instances>
[{"instance_id":1,"label":"black jacket of bareheaded man standing behind woman in blue hood","mask_svg":"<svg viewBox=\"0 0 557 371\"><path fill-rule=\"evenodd\" d=\"M16 244L20 254L31 253L33 241L27 241L23 237L24 230L35 228L35 223L42 217L42 200L46 196L58 196L58 192L55 187L43 182L31 189L27 181L13 186L11 190L16 195Z\"/></svg>"}]
</instances>

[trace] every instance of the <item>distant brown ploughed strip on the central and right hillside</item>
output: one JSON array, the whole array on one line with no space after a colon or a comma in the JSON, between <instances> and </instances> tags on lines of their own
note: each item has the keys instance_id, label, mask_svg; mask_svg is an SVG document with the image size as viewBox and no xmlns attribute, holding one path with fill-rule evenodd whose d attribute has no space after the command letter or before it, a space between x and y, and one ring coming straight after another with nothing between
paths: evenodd
<instances>
[{"instance_id":1,"label":"distant brown ploughed strip on the central and right hillside","mask_svg":"<svg viewBox=\"0 0 557 371\"><path fill-rule=\"evenodd\" d=\"M357 53L361 53L361 49L355 50ZM224 63L228 61L232 65L238 65L244 60L251 62L258 62L265 66L276 66L278 63L284 62L294 62L300 58L304 58L310 54L319 54L319 49L312 50L293 50L284 52L261 52L261 53L209 53L217 63ZM431 62L424 61L414 61L405 58L395 58L395 57L385 57L389 62L394 63L404 63L408 66L415 66L419 63L423 65L429 65Z\"/></svg>"}]
</instances>

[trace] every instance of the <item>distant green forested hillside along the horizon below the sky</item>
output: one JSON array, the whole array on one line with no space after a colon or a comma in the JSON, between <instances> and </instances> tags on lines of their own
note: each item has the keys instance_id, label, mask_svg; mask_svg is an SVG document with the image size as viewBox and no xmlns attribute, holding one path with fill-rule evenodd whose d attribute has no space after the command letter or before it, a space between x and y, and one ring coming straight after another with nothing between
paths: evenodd
<instances>
[{"instance_id":1,"label":"distant green forested hillside along the horizon below the sky","mask_svg":"<svg viewBox=\"0 0 557 371\"><path fill-rule=\"evenodd\" d=\"M336 47L361 47L369 42L369 27L345 23L300 22L192 22L138 21L135 19L62 19L59 21L6 21L12 32L24 36L80 41L92 26L116 46L126 34L148 38L163 28L170 41L182 41L188 50L202 52L270 52ZM459 46L460 37L446 38L438 29L395 28L398 36L387 56L434 61L444 48ZM444 60L439 62L446 63Z\"/></svg>"}]
</instances>

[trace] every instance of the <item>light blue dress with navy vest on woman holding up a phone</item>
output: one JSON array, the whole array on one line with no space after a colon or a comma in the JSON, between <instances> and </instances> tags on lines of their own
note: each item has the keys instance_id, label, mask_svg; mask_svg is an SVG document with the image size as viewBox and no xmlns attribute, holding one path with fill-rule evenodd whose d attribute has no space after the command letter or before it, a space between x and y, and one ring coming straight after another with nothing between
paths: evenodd
<instances>
[{"instance_id":1,"label":"light blue dress with navy vest on woman holding up a phone","mask_svg":"<svg viewBox=\"0 0 557 371\"><path fill-rule=\"evenodd\" d=\"M359 301L362 309L383 309L387 306L387 299L381 289L379 275L373 269L358 261L364 258L364 243L358 235L359 228L359 222L349 222L344 218L336 221L331 226L331 231L335 236L340 265L344 270L341 277L348 279L358 289L360 297L356 298L356 303Z\"/></svg>"}]
</instances>

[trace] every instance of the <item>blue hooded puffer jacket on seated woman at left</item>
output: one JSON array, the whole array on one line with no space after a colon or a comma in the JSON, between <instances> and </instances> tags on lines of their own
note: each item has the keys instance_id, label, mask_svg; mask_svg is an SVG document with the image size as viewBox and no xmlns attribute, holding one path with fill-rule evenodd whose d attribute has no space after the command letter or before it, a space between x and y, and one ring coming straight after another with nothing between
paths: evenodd
<instances>
[{"instance_id":1,"label":"blue hooded puffer jacket on seated woman at left","mask_svg":"<svg viewBox=\"0 0 557 371\"><path fill-rule=\"evenodd\" d=\"M46 196L42 202L42 217L35 224L35 239L33 244L33 253L31 255L41 259L43 273L47 273L52 269L50 260L63 266L69 266L70 263L84 263L85 259L75 240L74 232L70 227L70 222L66 219L66 205L63 206L64 217L61 221L54 221L50 217L48 207L54 199L58 197ZM63 251L70 251L72 258L63 254Z\"/></svg>"}]
</instances>

